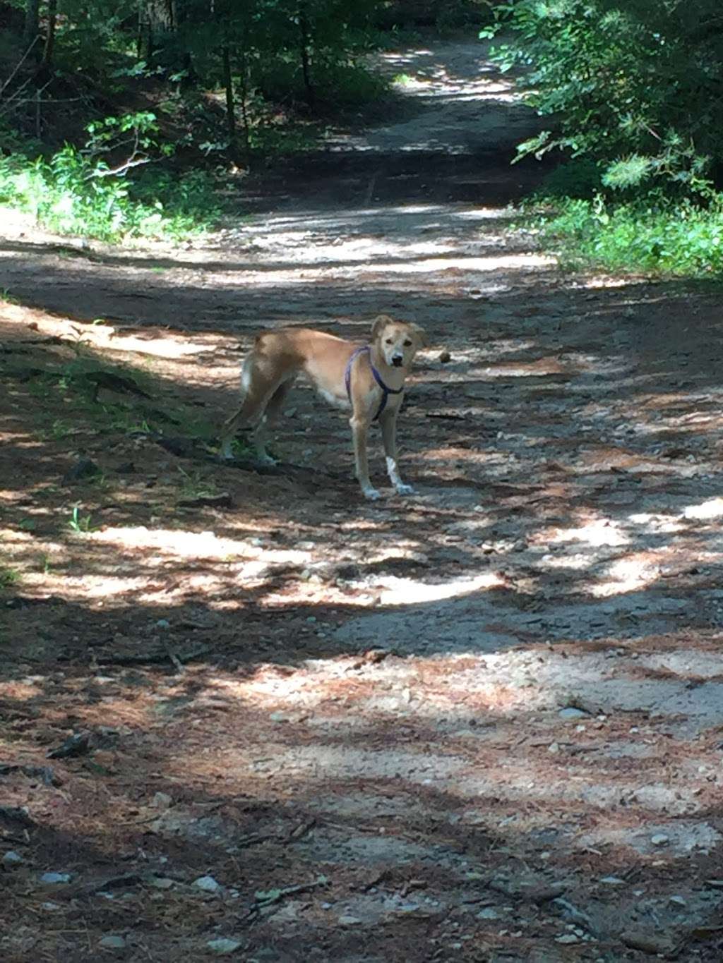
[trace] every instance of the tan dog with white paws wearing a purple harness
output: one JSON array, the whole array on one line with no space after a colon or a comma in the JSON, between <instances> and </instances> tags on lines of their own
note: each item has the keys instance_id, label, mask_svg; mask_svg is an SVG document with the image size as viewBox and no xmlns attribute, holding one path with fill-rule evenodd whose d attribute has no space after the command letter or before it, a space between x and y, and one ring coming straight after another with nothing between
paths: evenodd
<instances>
[{"instance_id":1,"label":"tan dog with white paws wearing a purple harness","mask_svg":"<svg viewBox=\"0 0 723 963\"><path fill-rule=\"evenodd\" d=\"M258 459L266 454L266 429L279 417L297 375L305 374L328 402L351 409L357 478L366 498L379 498L369 481L366 436L372 421L382 426L389 480L400 495L414 489L399 477L396 453L396 416L404 397L404 382L415 353L426 343L418 325L380 315L371 329L371 344L358 348L333 334L308 327L286 327L259 334L241 370L244 398L224 425L221 452L231 458L231 440L239 429L254 428Z\"/></svg>"}]
</instances>

